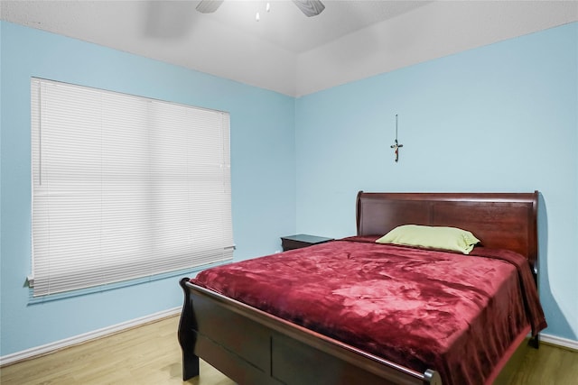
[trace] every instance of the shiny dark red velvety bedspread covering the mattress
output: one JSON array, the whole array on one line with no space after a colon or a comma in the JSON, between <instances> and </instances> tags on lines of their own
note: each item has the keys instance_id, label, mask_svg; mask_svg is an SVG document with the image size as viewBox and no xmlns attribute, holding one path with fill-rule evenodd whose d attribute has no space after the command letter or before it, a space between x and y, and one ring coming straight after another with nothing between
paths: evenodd
<instances>
[{"instance_id":1,"label":"shiny dark red velvety bedspread covering the mattress","mask_svg":"<svg viewBox=\"0 0 578 385\"><path fill-rule=\"evenodd\" d=\"M536 287L518 279L532 277L521 255L367 241L241 261L191 281L415 371L439 371L444 384L484 383L528 325L545 327Z\"/></svg>"}]
</instances>

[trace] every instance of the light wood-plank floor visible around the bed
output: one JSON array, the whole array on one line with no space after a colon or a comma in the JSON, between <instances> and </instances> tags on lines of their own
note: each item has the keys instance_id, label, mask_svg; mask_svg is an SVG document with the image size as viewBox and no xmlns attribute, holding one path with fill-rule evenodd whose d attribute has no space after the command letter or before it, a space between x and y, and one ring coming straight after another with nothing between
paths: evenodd
<instances>
[{"instance_id":1,"label":"light wood-plank floor visible around the bed","mask_svg":"<svg viewBox=\"0 0 578 385\"><path fill-rule=\"evenodd\" d=\"M0 369L2 385L194 384L231 385L222 373L201 362L200 377L181 380L178 317L136 327L57 353ZM541 344L507 385L578 384L578 352ZM253 384L247 384L253 385ZM317 385L317 384L315 384Z\"/></svg>"}]
</instances>

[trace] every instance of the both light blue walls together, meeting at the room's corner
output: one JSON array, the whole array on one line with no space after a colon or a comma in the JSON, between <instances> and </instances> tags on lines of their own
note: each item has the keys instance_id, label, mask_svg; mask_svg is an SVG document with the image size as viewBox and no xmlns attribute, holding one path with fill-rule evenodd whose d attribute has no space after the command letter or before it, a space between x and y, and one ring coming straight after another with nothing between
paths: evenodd
<instances>
[{"instance_id":1,"label":"both light blue walls together, meeting at the room's corner","mask_svg":"<svg viewBox=\"0 0 578 385\"><path fill-rule=\"evenodd\" d=\"M537 189L545 333L578 339L578 23L298 99L11 23L0 33L0 356L182 301L170 279L30 303L30 77L230 112L238 260L295 231L354 234L359 189Z\"/></svg>"}]
</instances>

